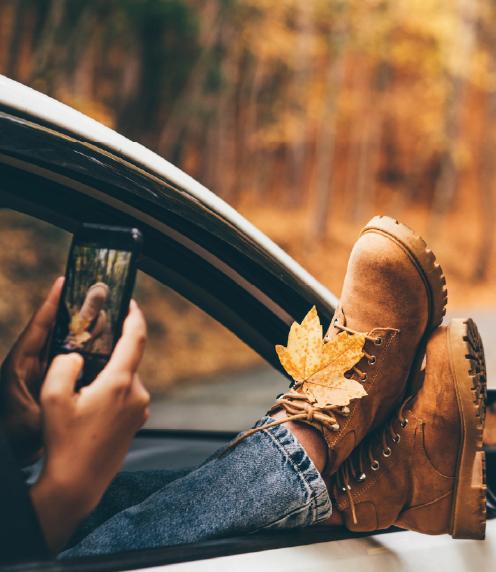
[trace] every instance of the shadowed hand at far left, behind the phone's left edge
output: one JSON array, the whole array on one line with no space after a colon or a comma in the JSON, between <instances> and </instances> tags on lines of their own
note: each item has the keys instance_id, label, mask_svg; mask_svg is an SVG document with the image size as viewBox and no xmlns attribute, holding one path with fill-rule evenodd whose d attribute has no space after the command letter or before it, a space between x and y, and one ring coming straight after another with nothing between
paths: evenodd
<instances>
[{"instance_id":1,"label":"shadowed hand at far left, behind the phone's left edge","mask_svg":"<svg viewBox=\"0 0 496 572\"><path fill-rule=\"evenodd\" d=\"M0 370L0 423L21 466L42 450L38 397L63 284L63 277L55 281Z\"/></svg>"}]
</instances>

